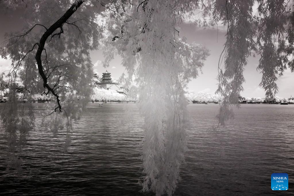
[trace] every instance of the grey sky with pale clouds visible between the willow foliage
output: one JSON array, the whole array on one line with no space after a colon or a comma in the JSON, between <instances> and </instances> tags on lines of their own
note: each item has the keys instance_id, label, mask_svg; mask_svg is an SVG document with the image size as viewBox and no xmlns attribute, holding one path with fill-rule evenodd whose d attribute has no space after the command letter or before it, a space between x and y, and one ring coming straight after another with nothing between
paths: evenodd
<instances>
[{"instance_id":1,"label":"grey sky with pale clouds visible between the willow foliage","mask_svg":"<svg viewBox=\"0 0 294 196\"><path fill-rule=\"evenodd\" d=\"M8 17L4 13L0 13L0 43L4 41L4 33L20 30L21 11L15 11L12 17ZM223 45L225 43L225 31L224 28L200 28L192 24L181 24L180 37L185 37L188 43L199 43L208 50L210 50L210 56L204 62L202 69L203 74L199 74L198 78L193 79L188 84L189 91L204 92L214 94L217 89L216 77L218 75L218 60L221 52L223 51ZM106 68L103 68L102 61L104 60L103 51L91 52L92 62L94 64L94 71L98 75L102 75ZM256 68L258 66L258 57L248 58L248 64L244 70L245 83L243 84L244 91L240 93L243 97L265 97L265 91L259 86L262 74ZM10 62L0 57L0 73L9 70ZM121 58L116 56L110 63L110 67L107 68L113 78L119 78L124 72L123 66L121 66ZM291 73L287 69L283 76L278 78L279 92L276 96L289 98L294 96L294 73Z\"/></svg>"}]
</instances>

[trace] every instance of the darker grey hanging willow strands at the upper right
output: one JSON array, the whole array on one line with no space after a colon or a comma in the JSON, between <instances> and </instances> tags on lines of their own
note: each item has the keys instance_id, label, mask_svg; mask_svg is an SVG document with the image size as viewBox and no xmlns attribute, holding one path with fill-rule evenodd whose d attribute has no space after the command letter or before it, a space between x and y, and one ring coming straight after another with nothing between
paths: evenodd
<instances>
[{"instance_id":1,"label":"darker grey hanging willow strands at the upper right","mask_svg":"<svg viewBox=\"0 0 294 196\"><path fill-rule=\"evenodd\" d=\"M283 75L287 67L294 71L291 9L293 1L214 1L213 18L227 27L216 91L223 99L217 116L220 124L233 117L231 105L239 107L238 96L245 82L243 70L249 56L260 57L257 68L262 73L260 86L265 89L266 98L273 98L278 92L278 75Z\"/></svg>"}]
</instances>

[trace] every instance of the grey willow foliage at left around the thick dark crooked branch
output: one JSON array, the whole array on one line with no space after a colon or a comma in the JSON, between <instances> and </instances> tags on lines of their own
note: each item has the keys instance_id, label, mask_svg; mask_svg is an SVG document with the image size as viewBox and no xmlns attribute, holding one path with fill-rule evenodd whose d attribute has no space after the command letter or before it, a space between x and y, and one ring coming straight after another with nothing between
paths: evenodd
<instances>
[{"instance_id":1,"label":"grey willow foliage at left around the thick dark crooked branch","mask_svg":"<svg viewBox=\"0 0 294 196\"><path fill-rule=\"evenodd\" d=\"M7 40L1 43L0 49L1 57L9 57L12 62L11 71L6 73L9 100L1 111L11 154L8 166L13 162L20 171L19 153L26 136L34 129L34 113L28 104L21 103L31 101L28 92L17 97L15 81L20 78L24 89L31 94L51 96L54 105L46 110L43 125L48 125L54 136L66 125L65 146L68 146L72 122L80 118L91 98L90 51L98 48L101 29L95 22L95 6L90 2L1 1L0 5L10 10L22 8L23 12L23 29L6 33ZM4 84L3 75L0 79Z\"/></svg>"}]
</instances>

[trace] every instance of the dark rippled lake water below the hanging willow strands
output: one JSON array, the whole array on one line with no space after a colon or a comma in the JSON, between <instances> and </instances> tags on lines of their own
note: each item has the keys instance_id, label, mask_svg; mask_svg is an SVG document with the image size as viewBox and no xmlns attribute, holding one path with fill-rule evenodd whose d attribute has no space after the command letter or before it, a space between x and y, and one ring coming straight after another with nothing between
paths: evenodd
<instances>
[{"instance_id":1,"label":"dark rippled lake water below the hanging willow strands","mask_svg":"<svg viewBox=\"0 0 294 196\"><path fill-rule=\"evenodd\" d=\"M40 110L43 104L34 105ZM75 125L68 154L62 153L64 133L53 138L50 131L36 129L22 151L21 176L5 172L0 125L0 195L154 195L139 192L143 120L136 104L128 107L136 114L130 130L118 123L123 104L89 104ZM217 125L218 107L188 105L188 150L174 195L293 195L294 105L243 104L216 133L207 129ZM272 173L288 173L289 190L272 191Z\"/></svg>"}]
</instances>

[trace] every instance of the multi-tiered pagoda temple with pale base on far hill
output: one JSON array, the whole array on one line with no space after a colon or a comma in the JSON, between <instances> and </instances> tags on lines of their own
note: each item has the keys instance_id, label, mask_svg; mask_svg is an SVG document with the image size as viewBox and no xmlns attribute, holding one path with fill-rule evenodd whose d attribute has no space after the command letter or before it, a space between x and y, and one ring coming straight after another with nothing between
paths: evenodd
<instances>
[{"instance_id":1,"label":"multi-tiered pagoda temple with pale base on far hill","mask_svg":"<svg viewBox=\"0 0 294 196\"><path fill-rule=\"evenodd\" d=\"M94 73L94 78L98 78L97 77L97 73ZM116 83L116 82L112 82L111 79L111 74L106 70L106 72L102 73L102 78L100 82L95 82L94 84L99 85L101 88L105 88L107 90L111 89L111 90L115 90L118 93L124 93L123 89L121 88L121 86Z\"/></svg>"}]
</instances>

